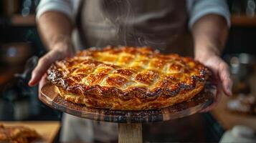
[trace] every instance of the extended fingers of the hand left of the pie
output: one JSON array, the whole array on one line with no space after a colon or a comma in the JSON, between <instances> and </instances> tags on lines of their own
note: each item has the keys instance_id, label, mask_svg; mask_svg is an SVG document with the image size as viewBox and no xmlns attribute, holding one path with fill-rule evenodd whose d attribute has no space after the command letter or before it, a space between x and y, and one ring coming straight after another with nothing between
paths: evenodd
<instances>
[{"instance_id":1,"label":"extended fingers of the hand left of the pie","mask_svg":"<svg viewBox=\"0 0 256 143\"><path fill-rule=\"evenodd\" d=\"M60 59L60 54L57 51L49 51L39 59L37 66L32 71L32 78L29 81L29 86L32 87L42 79L42 76L47 71L49 66L56 60Z\"/></svg>"}]
</instances>

